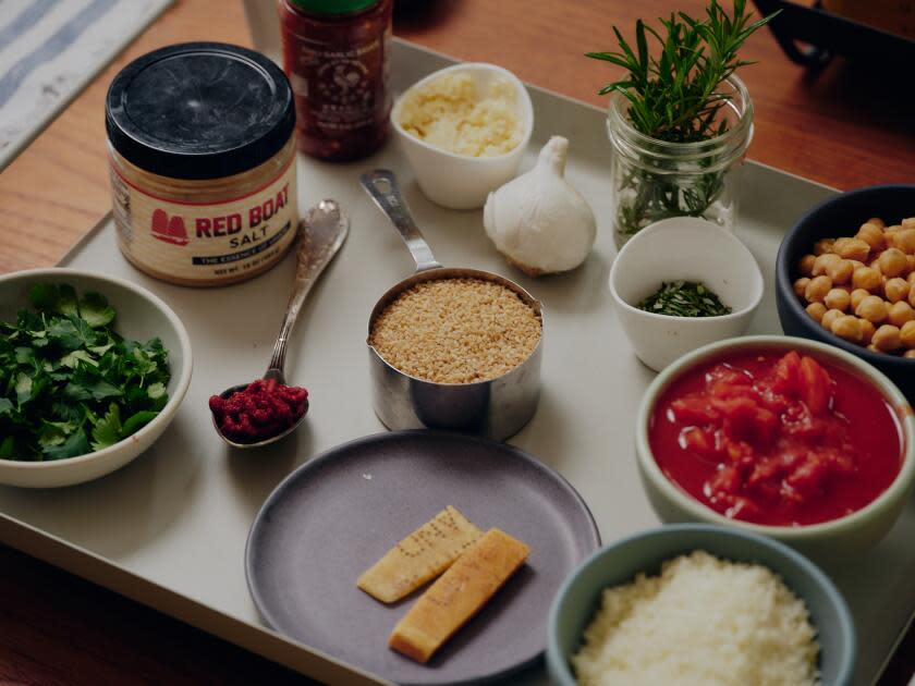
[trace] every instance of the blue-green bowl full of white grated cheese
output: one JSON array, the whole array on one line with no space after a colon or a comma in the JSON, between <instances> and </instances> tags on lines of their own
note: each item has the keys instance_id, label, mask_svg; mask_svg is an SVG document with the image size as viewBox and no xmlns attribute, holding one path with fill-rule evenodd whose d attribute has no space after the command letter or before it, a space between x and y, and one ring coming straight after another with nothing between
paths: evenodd
<instances>
[{"instance_id":1,"label":"blue-green bowl full of white grated cheese","mask_svg":"<svg viewBox=\"0 0 915 686\"><path fill-rule=\"evenodd\" d=\"M769 538L705 524L607 546L563 583L549 616L553 681L847 686L856 635L832 581Z\"/></svg>"}]
</instances>

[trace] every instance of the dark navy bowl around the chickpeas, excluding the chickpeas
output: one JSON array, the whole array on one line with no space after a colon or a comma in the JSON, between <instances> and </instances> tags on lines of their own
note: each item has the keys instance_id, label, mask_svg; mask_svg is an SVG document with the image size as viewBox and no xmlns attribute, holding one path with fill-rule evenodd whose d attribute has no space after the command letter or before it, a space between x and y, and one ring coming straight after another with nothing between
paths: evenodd
<instances>
[{"instance_id":1,"label":"dark navy bowl around the chickpeas, excluding the chickpeas","mask_svg":"<svg viewBox=\"0 0 915 686\"><path fill-rule=\"evenodd\" d=\"M814 243L820 238L853 236L870 217L880 217L891 225L913 216L913 184L888 184L850 191L817 205L804 215L785 235L776 261L776 303L784 332L788 335L822 341L857 355L887 375L910 401L915 401L915 359L873 353L827 331L805 311L792 284L798 278L798 260L813 253Z\"/></svg>"}]
</instances>

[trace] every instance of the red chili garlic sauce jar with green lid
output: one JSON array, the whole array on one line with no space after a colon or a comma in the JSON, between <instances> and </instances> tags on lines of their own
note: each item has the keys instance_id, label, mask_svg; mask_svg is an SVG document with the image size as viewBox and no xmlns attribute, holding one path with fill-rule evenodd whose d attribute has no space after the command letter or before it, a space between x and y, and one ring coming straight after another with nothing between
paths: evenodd
<instances>
[{"instance_id":1,"label":"red chili garlic sauce jar with green lid","mask_svg":"<svg viewBox=\"0 0 915 686\"><path fill-rule=\"evenodd\" d=\"M388 136L393 0L278 0L298 148L354 160Z\"/></svg>"}]
</instances>

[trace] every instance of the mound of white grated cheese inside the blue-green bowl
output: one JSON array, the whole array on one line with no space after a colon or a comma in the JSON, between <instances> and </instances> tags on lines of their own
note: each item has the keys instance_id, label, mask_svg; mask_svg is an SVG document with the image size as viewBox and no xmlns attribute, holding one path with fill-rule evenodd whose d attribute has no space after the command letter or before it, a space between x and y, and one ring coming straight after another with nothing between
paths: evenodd
<instances>
[{"instance_id":1,"label":"mound of white grated cheese inside the blue-green bowl","mask_svg":"<svg viewBox=\"0 0 915 686\"><path fill-rule=\"evenodd\" d=\"M760 565L695 551L603 591L572 657L584 686L819 684L804 602Z\"/></svg>"}]
</instances>

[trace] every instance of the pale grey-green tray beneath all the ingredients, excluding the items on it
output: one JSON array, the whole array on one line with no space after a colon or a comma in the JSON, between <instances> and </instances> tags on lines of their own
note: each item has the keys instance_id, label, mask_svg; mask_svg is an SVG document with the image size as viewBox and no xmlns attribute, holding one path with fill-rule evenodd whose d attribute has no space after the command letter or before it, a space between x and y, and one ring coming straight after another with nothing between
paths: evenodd
<instances>
[{"instance_id":1,"label":"pale grey-green tray beneath all the ingredients, excluding the items on it","mask_svg":"<svg viewBox=\"0 0 915 686\"><path fill-rule=\"evenodd\" d=\"M451 63L394 41L394 86L402 90ZM411 262L400 237L358 186L359 173L377 167L400 175L439 259L507 274L544 302L542 399L534 420L511 442L572 482L590 506L603 541L657 525L638 480L632 433L639 397L654 373L630 350L607 286L615 250L603 113L529 90L536 128L524 169L549 135L572 142L569 179L591 201L599 224L597 245L584 267L544 280L513 271L484 235L480 213L443 210L426 200L394 145L351 164L300 158L300 207L333 197L350 215L352 229L306 303L290 348L289 378L312 394L307 421L294 437L255 455L233 453L216 438L207 397L263 372L292 262L286 259L263 277L223 289L173 286L133 269L118 252L110 221L101 222L62 265L127 279L168 302L191 336L194 379L169 431L120 471L60 490L0 488L0 540L310 676L369 683L369 675L263 626L245 586L244 547L261 503L293 468L332 445L383 430L369 403L367 317ZM767 289L752 332L773 333L779 326L772 274L781 236L804 210L834 191L753 162L743 174L737 233L759 261ZM857 624L855 683L861 686L875 682L915 608L913 541L915 503L910 503L878 548L827 569ZM545 683L546 675L534 670L515 681Z\"/></svg>"}]
</instances>

